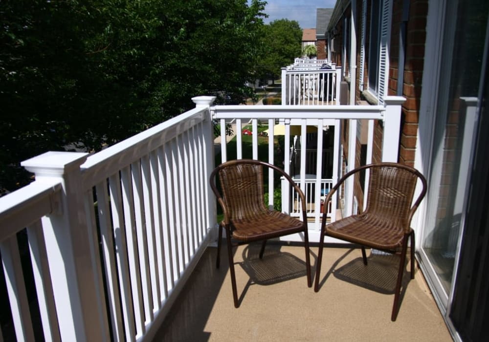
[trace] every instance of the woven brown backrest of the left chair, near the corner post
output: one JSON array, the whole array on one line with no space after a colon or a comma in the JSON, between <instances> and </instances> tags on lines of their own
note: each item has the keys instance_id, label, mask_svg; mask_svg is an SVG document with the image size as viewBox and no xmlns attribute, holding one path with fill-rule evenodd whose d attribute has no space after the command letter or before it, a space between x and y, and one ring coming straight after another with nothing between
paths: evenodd
<instances>
[{"instance_id":1,"label":"woven brown backrest of the left chair, near the corner post","mask_svg":"<svg viewBox=\"0 0 489 342\"><path fill-rule=\"evenodd\" d=\"M261 162L233 160L217 167L211 177L214 178L216 173L221 183L222 200L229 211L229 217L225 217L225 221L243 219L267 211ZM213 186L213 190L219 198L217 188Z\"/></svg>"}]
</instances>

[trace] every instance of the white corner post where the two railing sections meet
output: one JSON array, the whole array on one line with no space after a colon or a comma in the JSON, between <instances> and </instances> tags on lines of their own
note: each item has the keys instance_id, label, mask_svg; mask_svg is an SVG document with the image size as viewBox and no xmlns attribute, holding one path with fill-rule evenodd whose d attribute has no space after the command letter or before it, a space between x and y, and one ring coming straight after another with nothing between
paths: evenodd
<instances>
[{"instance_id":1,"label":"white corner post where the two railing sections meet","mask_svg":"<svg viewBox=\"0 0 489 342\"><path fill-rule=\"evenodd\" d=\"M206 189L206 196L205 198L207 199L206 202L206 209L207 209L207 222L206 222L206 227L208 232L211 234L211 240L214 241L216 237L216 198L214 194L212 193L212 190L210 188L210 183L209 183L209 177L214 170L215 167L215 157L214 157L214 126L213 126L213 121L212 121L212 114L210 111L210 106L214 103L214 100L216 100L215 96L196 96L192 98L192 101L195 103L196 108L208 108L207 110L207 119L204 121L203 125L203 144L204 144L204 153L205 153L205 166L204 166L204 179L205 179L205 185L204 189ZM226 137L224 136L224 139Z\"/></svg>"}]
</instances>

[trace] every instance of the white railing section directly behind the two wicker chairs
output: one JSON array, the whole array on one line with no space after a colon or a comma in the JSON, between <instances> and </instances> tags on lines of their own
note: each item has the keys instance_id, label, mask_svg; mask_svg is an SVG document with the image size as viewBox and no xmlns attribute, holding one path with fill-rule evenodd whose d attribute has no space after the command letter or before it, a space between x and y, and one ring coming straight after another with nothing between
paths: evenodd
<instances>
[{"instance_id":1,"label":"white railing section directly behind the two wicker chairs","mask_svg":"<svg viewBox=\"0 0 489 342\"><path fill-rule=\"evenodd\" d=\"M323 145L323 134L316 134L317 142L315 144L316 150L311 152L311 149L307 149L307 131L308 128L314 126L316 132L323 132L328 127L334 130L333 146L333 170L331 171L332 177L331 182L335 184L338 179L339 166L341 156L340 156L340 132L341 132L341 119L350 120L350 136L356 139L356 121L357 119L367 119L369 131L373 128L375 120L382 120L384 125L384 132L389 129L389 133L385 132L384 135L398 132L398 136L389 136L389 141L399 141L399 123L400 123L400 105L404 101L403 97L386 97L384 106L276 106L276 105L266 105L266 106L214 106L211 107L212 117L221 125L221 136L225 136L225 128L227 124L235 125L236 132L236 149L230 150L229 146L226 144L225 139L221 141L221 147L217 151L221 154L221 162L225 162L228 159L236 157L237 159L242 159L244 157L251 157L253 159L260 159L266 161L270 164L275 164L279 161L275 161L275 156L277 153L283 153L284 161L283 165L280 165L287 173L291 174L291 164L297 163L299 165L300 174L294 175L300 180L300 188L306 189L306 170L311 170L307 168L307 165L315 165L315 175L322 174L322 165L324 149L329 149L330 146L326 144ZM280 130L278 135L274 134L276 125L284 125ZM259 127L267 126L268 136L259 136ZM297 131L297 126L299 126L299 131ZM251 146L244 142L242 130L244 127L250 127L251 129ZM397 127L397 128L395 128ZM294 129L292 129L294 128ZM277 131L278 131L277 127ZM396 130L397 129L397 130ZM298 156L300 160L292 160L291 151L294 150L294 143L292 136L296 135L297 139L300 139L300 150L298 153L294 153ZM283 138L282 138L283 136ZM258 139L267 139L268 149L264 153L261 150L259 156L259 144ZM283 140L284 146L277 146L277 139ZM262 145L263 146L263 145ZM367 154L372 155L372 150L374 146L373 134L369 134L367 143ZM398 150L396 148L397 144L388 143L385 139L382 142L382 160L383 161L397 161ZM356 155L356 143L348 144L349 151L348 155L355 158ZM283 150L282 150L283 149ZM250 155L244 156L244 151L251 150ZM309 150L309 151L308 151ZM233 156L228 158L228 154ZM311 160L313 158L313 160ZM348 163L355 163L348 161ZM308 171L310 172L310 171ZM353 182L353 180L350 180ZM308 181L308 183L310 183ZM282 184L282 185L280 185ZM315 189L320 189L322 184L322 179L319 177L314 178ZM290 193L290 187L284 186L284 183L280 182L279 179L274 178L273 172L270 171L268 174L268 205L270 208L273 207L273 193L274 188L281 187L282 196L282 211L291 213L293 209L292 196ZM349 187L353 189L353 185ZM313 211L309 213L309 217L313 218L313 221L309 223L310 229L310 239L311 241L319 240L319 228L320 228L320 202L321 194L320 192L313 193L313 200L311 200L310 208L314 208ZM346 206L353 208L353 192L348 193L348 196L352 197L352 200L346 201ZM337 208L336 197L332 199L332 208ZM336 211L331 211L331 220L335 220ZM288 236L284 239L290 240L300 240L300 236Z\"/></svg>"}]
</instances>

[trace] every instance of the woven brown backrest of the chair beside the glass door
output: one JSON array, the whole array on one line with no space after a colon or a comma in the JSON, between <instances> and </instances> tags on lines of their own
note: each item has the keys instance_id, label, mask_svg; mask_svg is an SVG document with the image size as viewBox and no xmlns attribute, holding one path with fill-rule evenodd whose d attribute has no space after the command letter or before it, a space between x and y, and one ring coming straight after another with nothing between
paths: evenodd
<instances>
[{"instance_id":1,"label":"woven brown backrest of the chair beside the glass door","mask_svg":"<svg viewBox=\"0 0 489 342\"><path fill-rule=\"evenodd\" d=\"M412 215L426 192L426 180L416 169L401 164L380 163L369 169L367 206L363 214L394 220L397 226L409 231ZM422 193L412 205L418 179L422 181Z\"/></svg>"}]
</instances>

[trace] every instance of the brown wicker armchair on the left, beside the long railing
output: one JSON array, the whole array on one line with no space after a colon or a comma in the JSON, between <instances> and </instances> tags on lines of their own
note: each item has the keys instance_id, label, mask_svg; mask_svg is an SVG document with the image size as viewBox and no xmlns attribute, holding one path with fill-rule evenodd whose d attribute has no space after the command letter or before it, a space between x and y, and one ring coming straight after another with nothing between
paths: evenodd
<instances>
[{"instance_id":1,"label":"brown wicker armchair on the left, beside the long railing","mask_svg":"<svg viewBox=\"0 0 489 342\"><path fill-rule=\"evenodd\" d=\"M271 168L284 176L299 194L302 204L302 222L288 214L268 210L264 203L263 169ZM218 191L215 178L219 175L222 195ZM216 267L219 268L222 227L226 231L229 271L233 288L234 306L239 307L234 273L231 237L239 243L263 240L260 258L263 257L267 239L304 233L306 248L306 270L308 286L312 286L311 263L309 256L309 238L306 217L306 199L304 193L292 181L290 176L274 165L258 160L232 160L218 166L210 176L212 190L222 207L224 219L219 224L219 239Z\"/></svg>"}]
</instances>

